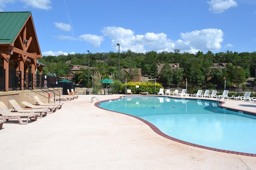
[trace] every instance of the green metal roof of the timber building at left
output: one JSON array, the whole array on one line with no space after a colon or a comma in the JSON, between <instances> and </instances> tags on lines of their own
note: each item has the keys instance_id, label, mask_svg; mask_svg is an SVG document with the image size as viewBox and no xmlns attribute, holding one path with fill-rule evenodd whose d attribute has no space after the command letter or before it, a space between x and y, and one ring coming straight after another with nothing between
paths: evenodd
<instances>
[{"instance_id":1,"label":"green metal roof of the timber building at left","mask_svg":"<svg viewBox=\"0 0 256 170\"><path fill-rule=\"evenodd\" d=\"M0 12L0 44L12 44L30 15L30 11Z\"/></svg>"}]
</instances>

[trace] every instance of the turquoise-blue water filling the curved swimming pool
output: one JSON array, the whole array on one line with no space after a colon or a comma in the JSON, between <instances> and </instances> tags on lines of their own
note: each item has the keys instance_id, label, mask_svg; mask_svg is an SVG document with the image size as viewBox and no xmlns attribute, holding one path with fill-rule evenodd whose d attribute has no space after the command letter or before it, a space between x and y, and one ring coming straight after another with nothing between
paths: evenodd
<instances>
[{"instance_id":1,"label":"turquoise-blue water filling the curved swimming pool","mask_svg":"<svg viewBox=\"0 0 256 170\"><path fill-rule=\"evenodd\" d=\"M206 147L256 154L256 116L216 102L165 96L130 96L100 107L140 117L170 137Z\"/></svg>"}]
</instances>

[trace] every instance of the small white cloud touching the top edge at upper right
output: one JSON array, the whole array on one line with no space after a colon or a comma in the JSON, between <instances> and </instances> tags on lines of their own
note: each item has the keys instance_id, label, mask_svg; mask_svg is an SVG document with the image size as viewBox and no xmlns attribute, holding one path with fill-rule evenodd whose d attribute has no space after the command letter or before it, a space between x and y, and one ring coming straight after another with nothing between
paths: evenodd
<instances>
[{"instance_id":1,"label":"small white cloud touching the top edge at upper right","mask_svg":"<svg viewBox=\"0 0 256 170\"><path fill-rule=\"evenodd\" d=\"M234 0L211 0L207 3L210 5L209 11L214 13L222 13L229 8L238 6Z\"/></svg>"}]
</instances>

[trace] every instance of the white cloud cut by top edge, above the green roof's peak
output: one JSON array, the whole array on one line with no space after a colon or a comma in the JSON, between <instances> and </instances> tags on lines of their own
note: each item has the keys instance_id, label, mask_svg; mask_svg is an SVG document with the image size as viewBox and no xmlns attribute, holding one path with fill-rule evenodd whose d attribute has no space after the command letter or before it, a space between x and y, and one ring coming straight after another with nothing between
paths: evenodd
<instances>
[{"instance_id":1,"label":"white cloud cut by top edge, above the green roof's peak","mask_svg":"<svg viewBox=\"0 0 256 170\"><path fill-rule=\"evenodd\" d=\"M24 2L25 7L31 6L32 8L39 8L43 10L52 9L52 6L50 6L51 4L50 0L20 0L20 1Z\"/></svg>"}]
</instances>

